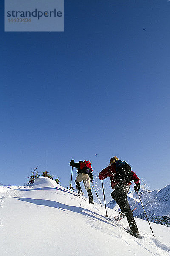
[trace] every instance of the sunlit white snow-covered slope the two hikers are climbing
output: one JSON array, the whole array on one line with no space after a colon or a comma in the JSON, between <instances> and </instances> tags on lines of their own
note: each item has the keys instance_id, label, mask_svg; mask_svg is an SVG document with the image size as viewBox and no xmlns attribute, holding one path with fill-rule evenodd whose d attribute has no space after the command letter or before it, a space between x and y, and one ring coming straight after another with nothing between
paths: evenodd
<instances>
[{"instance_id":1,"label":"sunlit white snow-covered slope the two hikers are climbing","mask_svg":"<svg viewBox=\"0 0 170 256\"><path fill-rule=\"evenodd\" d=\"M1 256L170 256L170 227L136 218L142 239L127 233L126 218L88 204L85 197L38 178L33 186L0 186Z\"/></svg>"}]
</instances>

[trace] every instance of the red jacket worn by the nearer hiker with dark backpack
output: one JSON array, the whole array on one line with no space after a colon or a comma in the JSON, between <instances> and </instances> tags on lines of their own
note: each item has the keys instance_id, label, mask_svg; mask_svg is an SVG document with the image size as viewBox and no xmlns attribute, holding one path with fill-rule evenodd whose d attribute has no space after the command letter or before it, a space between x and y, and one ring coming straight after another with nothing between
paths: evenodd
<instances>
[{"instance_id":1,"label":"red jacket worn by the nearer hiker with dark backpack","mask_svg":"<svg viewBox=\"0 0 170 256\"><path fill-rule=\"evenodd\" d=\"M137 177L136 173L133 173L133 177L132 180L134 181L135 184L140 184L139 182L139 178ZM109 166L107 166L105 169L103 169L101 172L99 172L99 179L100 180L104 180L107 177L111 177L111 187L112 189L115 189L115 185L118 184L119 182L116 181L116 168L115 168L115 164L111 164ZM130 185L132 183L129 183Z\"/></svg>"}]
</instances>

